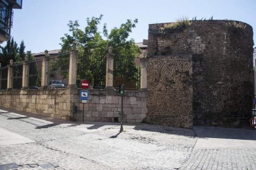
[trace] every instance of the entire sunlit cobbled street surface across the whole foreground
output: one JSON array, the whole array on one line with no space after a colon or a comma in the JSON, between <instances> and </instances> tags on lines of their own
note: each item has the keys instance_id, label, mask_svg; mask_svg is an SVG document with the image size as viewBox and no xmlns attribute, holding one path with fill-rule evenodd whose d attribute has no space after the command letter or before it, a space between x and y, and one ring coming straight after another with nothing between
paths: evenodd
<instances>
[{"instance_id":1,"label":"entire sunlit cobbled street surface across the whole foreground","mask_svg":"<svg viewBox=\"0 0 256 170\"><path fill-rule=\"evenodd\" d=\"M255 140L243 140L250 145L239 147L240 139L220 139L237 143L237 148L226 148L224 142L223 147L205 147L209 138L195 133L200 127L194 131L124 124L119 133L117 123L75 123L17 113L0 110L0 132L19 137L8 140L0 134L1 170L256 169ZM255 131L244 130L255 136Z\"/></svg>"}]
</instances>

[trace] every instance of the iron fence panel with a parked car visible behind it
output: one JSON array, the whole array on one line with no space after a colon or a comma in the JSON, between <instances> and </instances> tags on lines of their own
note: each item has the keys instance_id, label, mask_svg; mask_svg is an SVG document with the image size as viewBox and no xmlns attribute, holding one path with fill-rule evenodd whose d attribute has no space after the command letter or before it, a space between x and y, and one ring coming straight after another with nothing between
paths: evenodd
<instances>
[{"instance_id":1,"label":"iron fence panel with a parked car visible behind it","mask_svg":"<svg viewBox=\"0 0 256 170\"><path fill-rule=\"evenodd\" d=\"M69 53L49 57L48 89L66 88L69 81Z\"/></svg>"}]
</instances>

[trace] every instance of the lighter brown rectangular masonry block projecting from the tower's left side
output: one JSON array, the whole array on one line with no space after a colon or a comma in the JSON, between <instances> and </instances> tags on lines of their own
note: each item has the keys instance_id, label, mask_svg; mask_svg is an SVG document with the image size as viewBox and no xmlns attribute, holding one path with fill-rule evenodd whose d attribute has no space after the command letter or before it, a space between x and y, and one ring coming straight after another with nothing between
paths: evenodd
<instances>
[{"instance_id":1,"label":"lighter brown rectangular masonry block projecting from the tower's left side","mask_svg":"<svg viewBox=\"0 0 256 170\"><path fill-rule=\"evenodd\" d=\"M155 55L148 59L147 123L192 127L192 56Z\"/></svg>"}]
</instances>

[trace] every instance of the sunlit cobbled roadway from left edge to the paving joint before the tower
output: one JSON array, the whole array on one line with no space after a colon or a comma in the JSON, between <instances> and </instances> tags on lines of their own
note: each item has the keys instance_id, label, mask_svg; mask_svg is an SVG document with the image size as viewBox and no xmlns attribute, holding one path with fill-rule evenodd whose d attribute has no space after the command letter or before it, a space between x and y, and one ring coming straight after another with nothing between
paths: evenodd
<instances>
[{"instance_id":1,"label":"sunlit cobbled roadway from left edge to the paving joint before the tower","mask_svg":"<svg viewBox=\"0 0 256 170\"><path fill-rule=\"evenodd\" d=\"M0 145L0 169L179 169L197 139L190 129L124 124L119 133L118 123L13 113L0 110L0 127L34 142Z\"/></svg>"}]
</instances>

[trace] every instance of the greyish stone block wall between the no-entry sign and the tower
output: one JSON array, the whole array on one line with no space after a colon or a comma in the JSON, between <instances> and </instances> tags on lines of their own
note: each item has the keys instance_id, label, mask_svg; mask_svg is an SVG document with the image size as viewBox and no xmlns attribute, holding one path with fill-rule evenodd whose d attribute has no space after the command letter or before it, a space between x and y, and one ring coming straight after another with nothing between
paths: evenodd
<instances>
[{"instance_id":1,"label":"greyish stone block wall between the no-entry sign and the tower","mask_svg":"<svg viewBox=\"0 0 256 170\"><path fill-rule=\"evenodd\" d=\"M82 103L79 96L75 97L75 105L79 106L76 121L118 121L121 113L121 95L118 91L89 91L88 103ZM125 91L124 122L141 123L147 114L147 91ZM120 120L119 120L120 121Z\"/></svg>"}]
</instances>

